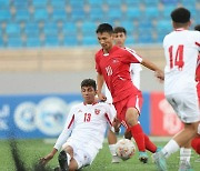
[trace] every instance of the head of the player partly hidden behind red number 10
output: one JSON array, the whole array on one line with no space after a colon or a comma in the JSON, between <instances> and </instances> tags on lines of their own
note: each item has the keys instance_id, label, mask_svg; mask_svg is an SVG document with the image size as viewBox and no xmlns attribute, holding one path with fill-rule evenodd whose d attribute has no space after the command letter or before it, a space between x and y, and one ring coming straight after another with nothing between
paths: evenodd
<instances>
[{"instance_id":1,"label":"head of the player partly hidden behind red number 10","mask_svg":"<svg viewBox=\"0 0 200 171\"><path fill-rule=\"evenodd\" d=\"M113 40L116 46L123 48L126 39L127 39L127 30L123 27L116 27L113 29Z\"/></svg>"}]
</instances>

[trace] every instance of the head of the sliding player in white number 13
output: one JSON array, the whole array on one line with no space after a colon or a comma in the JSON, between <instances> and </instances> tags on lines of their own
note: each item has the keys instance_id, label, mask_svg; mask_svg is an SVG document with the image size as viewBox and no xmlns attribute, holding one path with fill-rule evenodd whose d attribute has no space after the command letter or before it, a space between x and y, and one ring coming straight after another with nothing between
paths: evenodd
<instances>
[{"instance_id":1,"label":"head of the sliding player in white number 13","mask_svg":"<svg viewBox=\"0 0 200 171\"><path fill-rule=\"evenodd\" d=\"M96 81L92 79L84 79L81 82L81 93L87 104L93 103L97 94Z\"/></svg>"}]
</instances>

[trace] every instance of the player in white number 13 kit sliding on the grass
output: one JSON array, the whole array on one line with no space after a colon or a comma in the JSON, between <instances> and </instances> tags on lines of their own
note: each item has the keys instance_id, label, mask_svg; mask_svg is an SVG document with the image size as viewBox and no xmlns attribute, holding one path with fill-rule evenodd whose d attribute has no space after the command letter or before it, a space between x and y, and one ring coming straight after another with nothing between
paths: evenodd
<instances>
[{"instance_id":1,"label":"player in white number 13 kit sliding on the grass","mask_svg":"<svg viewBox=\"0 0 200 171\"><path fill-rule=\"evenodd\" d=\"M107 124L112 127L110 105L96 102L97 86L92 79L81 82L83 102L72 107L68 114L63 131L59 135L52 151L41 158L42 164L59 153L59 164L62 171L78 170L89 165L102 148Z\"/></svg>"}]
</instances>

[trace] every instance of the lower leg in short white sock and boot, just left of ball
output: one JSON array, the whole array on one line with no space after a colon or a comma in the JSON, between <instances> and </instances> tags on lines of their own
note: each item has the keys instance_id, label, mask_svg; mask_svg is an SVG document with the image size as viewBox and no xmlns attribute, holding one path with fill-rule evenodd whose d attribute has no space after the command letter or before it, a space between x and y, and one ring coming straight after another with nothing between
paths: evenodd
<instances>
[{"instance_id":1,"label":"lower leg in short white sock and boot, just left of ball","mask_svg":"<svg viewBox=\"0 0 200 171\"><path fill-rule=\"evenodd\" d=\"M112 155L112 163L119 163L121 160L116 153L117 137L116 133L111 130L108 130L108 143L109 143L110 153Z\"/></svg>"}]
</instances>

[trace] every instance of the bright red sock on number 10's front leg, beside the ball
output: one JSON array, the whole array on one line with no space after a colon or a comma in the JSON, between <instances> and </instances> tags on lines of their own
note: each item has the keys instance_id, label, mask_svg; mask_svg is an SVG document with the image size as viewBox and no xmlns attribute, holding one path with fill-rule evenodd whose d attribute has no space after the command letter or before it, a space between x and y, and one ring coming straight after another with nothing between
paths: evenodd
<instances>
[{"instance_id":1,"label":"bright red sock on number 10's front leg, beside the ball","mask_svg":"<svg viewBox=\"0 0 200 171\"><path fill-rule=\"evenodd\" d=\"M146 144L144 144L144 135L143 131L140 124L133 125L131 129L131 134L134 138L134 141L138 145L139 151L146 151Z\"/></svg>"}]
</instances>

